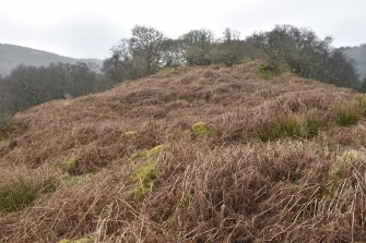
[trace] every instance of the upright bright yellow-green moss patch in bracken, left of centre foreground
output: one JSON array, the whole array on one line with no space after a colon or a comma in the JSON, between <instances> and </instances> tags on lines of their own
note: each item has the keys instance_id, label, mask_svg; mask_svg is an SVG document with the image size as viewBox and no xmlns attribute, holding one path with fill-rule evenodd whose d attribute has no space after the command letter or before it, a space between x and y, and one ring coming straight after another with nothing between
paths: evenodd
<instances>
[{"instance_id":1,"label":"upright bright yellow-green moss patch in bracken, left of centre foreground","mask_svg":"<svg viewBox=\"0 0 366 243\"><path fill-rule=\"evenodd\" d=\"M139 167L131 175L134 183L133 195L138 199L143 199L146 192L153 187L156 179L157 162L147 162Z\"/></svg>"}]
</instances>

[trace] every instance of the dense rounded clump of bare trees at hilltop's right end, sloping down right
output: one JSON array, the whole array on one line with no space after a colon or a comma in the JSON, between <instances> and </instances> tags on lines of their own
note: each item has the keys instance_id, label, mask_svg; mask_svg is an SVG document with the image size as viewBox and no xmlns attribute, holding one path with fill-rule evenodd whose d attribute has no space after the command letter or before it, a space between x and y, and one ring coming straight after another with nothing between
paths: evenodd
<instances>
[{"instance_id":1,"label":"dense rounded clump of bare trees at hilltop's right end, sloping down right","mask_svg":"<svg viewBox=\"0 0 366 243\"><path fill-rule=\"evenodd\" d=\"M280 25L245 41L251 58L267 59L272 69L285 64L304 77L359 88L357 73L341 50L332 50L331 37L321 40L309 29Z\"/></svg>"}]
</instances>

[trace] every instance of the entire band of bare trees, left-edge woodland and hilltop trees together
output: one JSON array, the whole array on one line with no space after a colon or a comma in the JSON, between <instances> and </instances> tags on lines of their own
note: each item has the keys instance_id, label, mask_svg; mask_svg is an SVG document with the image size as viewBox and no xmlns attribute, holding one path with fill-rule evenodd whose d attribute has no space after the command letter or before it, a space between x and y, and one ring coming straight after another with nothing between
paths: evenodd
<instances>
[{"instance_id":1,"label":"entire band of bare trees, left-edge woodland and hilltop trees together","mask_svg":"<svg viewBox=\"0 0 366 243\"><path fill-rule=\"evenodd\" d=\"M172 39L157 29L137 25L131 36L111 48L102 72L84 63L58 63L21 65L0 77L0 126L14 112L47 100L101 92L121 81L180 65L231 66L262 60L267 71L291 70L303 77L366 90L366 83L359 81L342 49L332 48L330 37L320 39L305 28L281 25L244 39L231 28L219 38L209 29L196 29Z\"/></svg>"}]
</instances>

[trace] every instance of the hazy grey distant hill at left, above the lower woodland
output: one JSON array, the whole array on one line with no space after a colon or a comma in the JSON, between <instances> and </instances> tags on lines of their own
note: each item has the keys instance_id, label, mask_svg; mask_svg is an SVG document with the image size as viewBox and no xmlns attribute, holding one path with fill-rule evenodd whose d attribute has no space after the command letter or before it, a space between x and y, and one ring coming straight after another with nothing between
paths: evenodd
<instances>
[{"instance_id":1,"label":"hazy grey distant hill at left, above the lower woodland","mask_svg":"<svg viewBox=\"0 0 366 243\"><path fill-rule=\"evenodd\" d=\"M102 66L103 63L103 61L98 59L73 59L27 47L0 44L0 74L2 76L9 75L11 70L20 64L42 66L48 65L52 62L85 62L91 65L98 66Z\"/></svg>"}]
</instances>

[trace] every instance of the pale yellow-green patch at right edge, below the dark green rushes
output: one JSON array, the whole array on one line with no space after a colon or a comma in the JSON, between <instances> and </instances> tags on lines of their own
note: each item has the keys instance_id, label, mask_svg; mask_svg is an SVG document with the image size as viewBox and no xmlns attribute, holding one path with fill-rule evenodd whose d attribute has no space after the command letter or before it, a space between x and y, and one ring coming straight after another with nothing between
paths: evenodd
<instances>
[{"instance_id":1,"label":"pale yellow-green patch at right edge, below the dark green rushes","mask_svg":"<svg viewBox=\"0 0 366 243\"><path fill-rule=\"evenodd\" d=\"M359 151L351 149L343 153L342 156L337 158L337 161L329 169L330 179L339 179L343 171L350 166L353 161L357 160L361 157Z\"/></svg>"}]
</instances>

